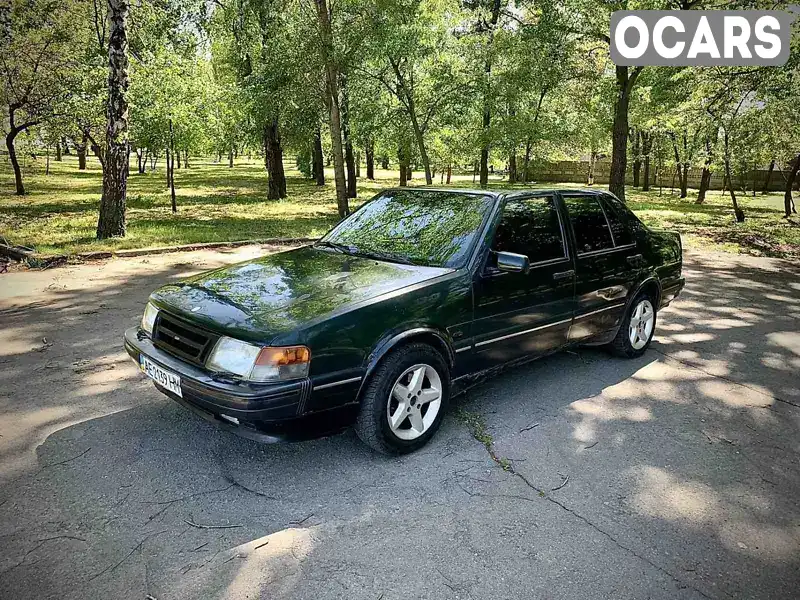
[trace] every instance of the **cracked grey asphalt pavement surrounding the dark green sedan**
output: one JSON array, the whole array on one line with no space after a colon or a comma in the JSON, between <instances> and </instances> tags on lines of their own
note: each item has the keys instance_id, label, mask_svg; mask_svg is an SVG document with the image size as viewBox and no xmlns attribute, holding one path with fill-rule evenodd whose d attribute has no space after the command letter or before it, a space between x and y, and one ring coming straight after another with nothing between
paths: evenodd
<instances>
[{"instance_id":1,"label":"cracked grey asphalt pavement surrounding the dark green sedan","mask_svg":"<svg viewBox=\"0 0 800 600\"><path fill-rule=\"evenodd\" d=\"M792 264L690 254L645 356L519 367L387 458L236 438L124 353L150 290L263 251L0 275L0 597L797 597Z\"/></svg>"}]
</instances>

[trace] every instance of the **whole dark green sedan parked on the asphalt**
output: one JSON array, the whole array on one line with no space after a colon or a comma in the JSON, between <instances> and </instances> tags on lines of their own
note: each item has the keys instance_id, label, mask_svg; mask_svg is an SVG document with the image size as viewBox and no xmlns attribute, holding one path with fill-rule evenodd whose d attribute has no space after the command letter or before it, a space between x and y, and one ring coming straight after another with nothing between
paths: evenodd
<instances>
[{"instance_id":1,"label":"whole dark green sedan parked on the asphalt","mask_svg":"<svg viewBox=\"0 0 800 600\"><path fill-rule=\"evenodd\" d=\"M598 191L387 190L317 243L156 290L125 347L240 435L425 444L453 393L571 344L647 350L678 234Z\"/></svg>"}]
</instances>

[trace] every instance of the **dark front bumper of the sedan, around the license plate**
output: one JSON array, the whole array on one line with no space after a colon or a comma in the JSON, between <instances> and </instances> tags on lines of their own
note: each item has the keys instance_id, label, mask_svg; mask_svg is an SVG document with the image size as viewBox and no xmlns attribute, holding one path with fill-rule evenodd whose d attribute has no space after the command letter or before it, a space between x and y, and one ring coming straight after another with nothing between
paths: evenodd
<instances>
[{"instance_id":1,"label":"dark front bumper of the sedan, around the license plate","mask_svg":"<svg viewBox=\"0 0 800 600\"><path fill-rule=\"evenodd\" d=\"M163 394L224 429L259 441L284 439L284 430L293 429L289 422L304 414L311 395L309 379L269 384L214 379L208 372L156 348L138 327L125 332L125 350L137 365L144 354L180 376L183 397L156 383Z\"/></svg>"}]
</instances>

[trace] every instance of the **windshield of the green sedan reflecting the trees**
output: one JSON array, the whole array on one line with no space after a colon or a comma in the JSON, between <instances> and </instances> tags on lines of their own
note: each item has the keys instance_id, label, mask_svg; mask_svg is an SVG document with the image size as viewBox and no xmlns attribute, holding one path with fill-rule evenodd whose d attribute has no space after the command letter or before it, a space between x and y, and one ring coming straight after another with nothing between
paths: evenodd
<instances>
[{"instance_id":1,"label":"windshield of the green sedan reflecting the trees","mask_svg":"<svg viewBox=\"0 0 800 600\"><path fill-rule=\"evenodd\" d=\"M339 223L317 245L393 262L459 268L493 202L481 194L390 190Z\"/></svg>"}]
</instances>

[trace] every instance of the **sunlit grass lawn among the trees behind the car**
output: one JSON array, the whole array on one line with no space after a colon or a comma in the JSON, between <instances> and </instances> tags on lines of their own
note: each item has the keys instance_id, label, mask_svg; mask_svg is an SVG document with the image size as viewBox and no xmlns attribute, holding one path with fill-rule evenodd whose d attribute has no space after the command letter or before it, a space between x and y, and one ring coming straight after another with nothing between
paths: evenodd
<instances>
[{"instance_id":1,"label":"sunlit grass lawn among the trees behind the car","mask_svg":"<svg viewBox=\"0 0 800 600\"><path fill-rule=\"evenodd\" d=\"M170 210L163 160L152 173L134 172L128 179L128 228L124 238L95 239L97 207L102 174L95 159L79 171L77 159L50 162L27 158L25 184L28 195L13 194L13 174L7 161L0 162L0 235L14 244L32 246L38 252L73 254L100 250L148 248L202 242L229 242L264 238L316 237L337 221L333 173L327 184L316 187L286 163L288 198L266 200L266 174L257 159L237 159L234 168L195 159L191 168L175 172L178 212ZM376 171L377 179L359 179L357 206L378 190L397 185L397 173ZM435 183L440 178L437 175ZM420 173L412 184L424 183ZM456 187L473 187L471 175L455 175ZM580 187L581 184L555 184ZM524 189L553 184L509 186L492 176L490 187ZM800 256L800 223L782 219L781 194L741 196L747 215L743 224L733 219L730 197L710 192L704 205L694 203L696 190L679 199L668 188L659 192L628 189L628 204L652 227L680 231L684 245L749 252L769 256Z\"/></svg>"}]
</instances>

